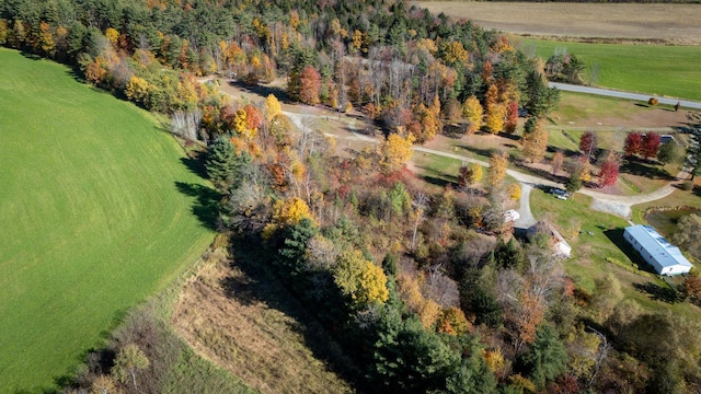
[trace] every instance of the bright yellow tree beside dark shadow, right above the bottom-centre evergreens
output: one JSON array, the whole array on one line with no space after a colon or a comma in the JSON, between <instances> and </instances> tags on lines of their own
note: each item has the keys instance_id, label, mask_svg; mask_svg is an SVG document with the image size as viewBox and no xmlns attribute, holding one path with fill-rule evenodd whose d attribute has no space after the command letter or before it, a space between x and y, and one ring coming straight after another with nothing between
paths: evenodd
<instances>
[{"instance_id":1,"label":"bright yellow tree beside dark shadow, right above the bottom-centre evergreens","mask_svg":"<svg viewBox=\"0 0 701 394\"><path fill-rule=\"evenodd\" d=\"M367 260L358 250L347 248L338 255L333 277L341 291L360 309L390 297L382 268Z\"/></svg>"}]
</instances>

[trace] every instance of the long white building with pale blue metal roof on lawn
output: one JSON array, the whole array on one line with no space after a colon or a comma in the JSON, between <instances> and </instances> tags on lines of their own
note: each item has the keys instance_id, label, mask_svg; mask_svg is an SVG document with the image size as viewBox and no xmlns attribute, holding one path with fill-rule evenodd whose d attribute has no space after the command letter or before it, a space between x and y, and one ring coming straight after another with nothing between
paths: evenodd
<instances>
[{"instance_id":1,"label":"long white building with pale blue metal roof on lawn","mask_svg":"<svg viewBox=\"0 0 701 394\"><path fill-rule=\"evenodd\" d=\"M687 274L691 269L691 263L679 247L670 244L650 225L631 225L623 232L623 237L659 275Z\"/></svg>"}]
</instances>

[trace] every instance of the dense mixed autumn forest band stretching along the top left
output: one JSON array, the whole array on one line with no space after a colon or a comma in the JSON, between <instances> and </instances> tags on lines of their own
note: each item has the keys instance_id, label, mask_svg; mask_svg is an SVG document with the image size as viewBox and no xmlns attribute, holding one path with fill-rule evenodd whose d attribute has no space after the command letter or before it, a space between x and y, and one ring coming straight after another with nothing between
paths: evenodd
<instances>
[{"instance_id":1,"label":"dense mixed autumn forest band stretching along the top left","mask_svg":"<svg viewBox=\"0 0 701 394\"><path fill-rule=\"evenodd\" d=\"M287 76L290 99L363 106L417 142L460 120L469 97L498 130L509 105L543 116L558 100L542 65L506 37L402 1L11 0L0 3L0 44L168 114L217 104L184 73Z\"/></svg>"}]
</instances>

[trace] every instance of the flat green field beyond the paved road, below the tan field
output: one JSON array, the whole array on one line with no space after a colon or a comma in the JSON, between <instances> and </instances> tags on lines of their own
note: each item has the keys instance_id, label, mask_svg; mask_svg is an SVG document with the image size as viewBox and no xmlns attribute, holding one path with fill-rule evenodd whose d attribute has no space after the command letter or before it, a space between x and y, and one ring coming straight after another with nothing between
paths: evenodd
<instances>
[{"instance_id":1,"label":"flat green field beyond the paved road, below the tan field","mask_svg":"<svg viewBox=\"0 0 701 394\"><path fill-rule=\"evenodd\" d=\"M566 48L590 69L593 84L644 94L701 101L701 50L696 46L584 44L524 39L521 47L547 60L555 48ZM585 74L588 82L588 74Z\"/></svg>"}]
</instances>

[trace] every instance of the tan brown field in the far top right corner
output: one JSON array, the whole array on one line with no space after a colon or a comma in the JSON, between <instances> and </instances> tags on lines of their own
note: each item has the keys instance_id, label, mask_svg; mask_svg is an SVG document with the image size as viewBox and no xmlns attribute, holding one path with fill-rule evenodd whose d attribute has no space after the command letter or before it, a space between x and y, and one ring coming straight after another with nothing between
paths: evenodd
<instances>
[{"instance_id":1,"label":"tan brown field in the far top right corner","mask_svg":"<svg viewBox=\"0 0 701 394\"><path fill-rule=\"evenodd\" d=\"M699 4L600 4L416 1L433 13L471 20L485 28L532 36L628 38L701 45Z\"/></svg>"}]
</instances>

